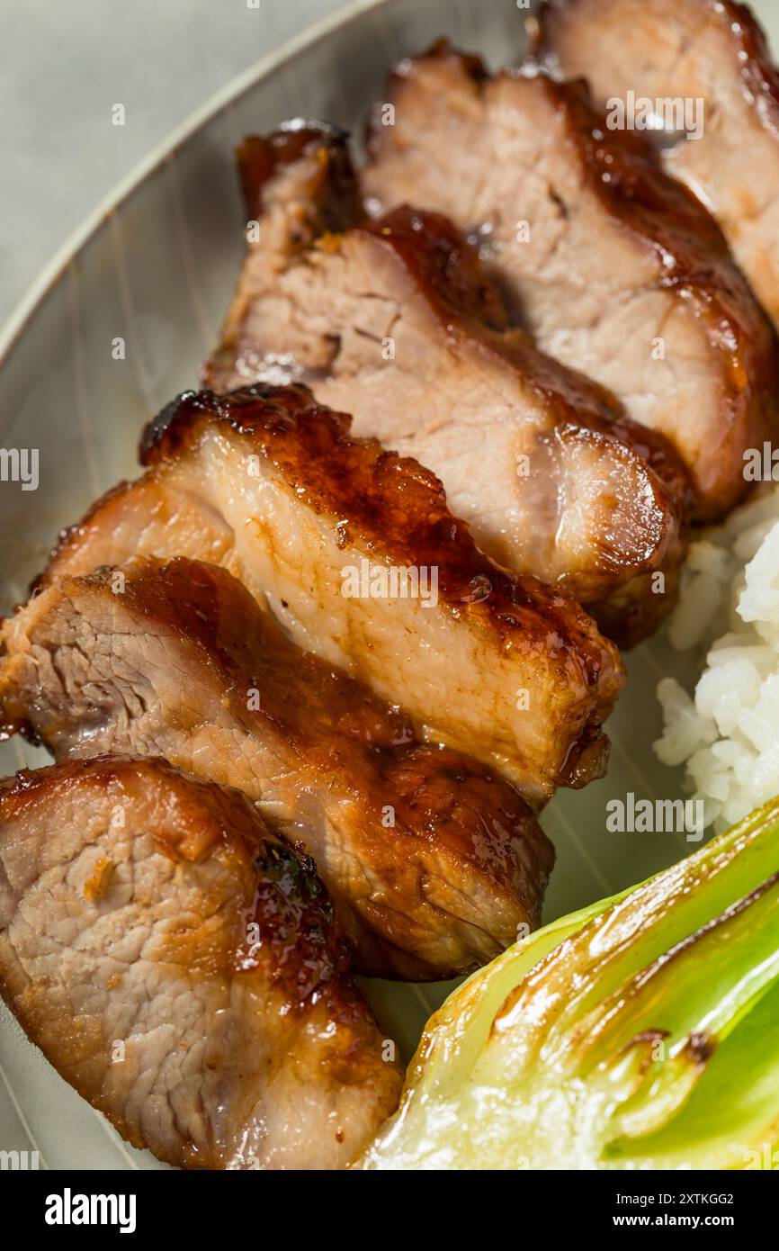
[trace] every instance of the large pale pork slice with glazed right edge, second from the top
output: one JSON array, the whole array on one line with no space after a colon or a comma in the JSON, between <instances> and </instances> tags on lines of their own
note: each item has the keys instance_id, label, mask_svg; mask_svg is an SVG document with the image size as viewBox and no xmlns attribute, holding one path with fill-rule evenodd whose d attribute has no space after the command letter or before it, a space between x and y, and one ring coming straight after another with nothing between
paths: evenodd
<instances>
[{"instance_id":1,"label":"large pale pork slice with glazed right edge, second from the top","mask_svg":"<svg viewBox=\"0 0 779 1251\"><path fill-rule=\"evenodd\" d=\"M714 219L643 136L608 130L583 83L493 79L441 43L403 61L385 99L394 124L374 110L364 173L374 210L413 200L471 230L539 347L676 447L699 519L725 513L773 424L776 362Z\"/></svg>"}]
</instances>

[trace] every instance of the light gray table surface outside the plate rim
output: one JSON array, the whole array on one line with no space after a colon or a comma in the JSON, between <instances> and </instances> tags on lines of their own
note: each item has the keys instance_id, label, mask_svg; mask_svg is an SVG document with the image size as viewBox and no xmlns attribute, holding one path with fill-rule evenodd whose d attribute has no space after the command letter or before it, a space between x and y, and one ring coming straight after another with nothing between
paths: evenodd
<instances>
[{"instance_id":1,"label":"light gray table surface outside the plate rim","mask_svg":"<svg viewBox=\"0 0 779 1251\"><path fill-rule=\"evenodd\" d=\"M174 126L343 0L255 3L0 0L0 325ZM779 49L779 0L753 8ZM114 104L125 106L124 126L111 124Z\"/></svg>"}]
</instances>

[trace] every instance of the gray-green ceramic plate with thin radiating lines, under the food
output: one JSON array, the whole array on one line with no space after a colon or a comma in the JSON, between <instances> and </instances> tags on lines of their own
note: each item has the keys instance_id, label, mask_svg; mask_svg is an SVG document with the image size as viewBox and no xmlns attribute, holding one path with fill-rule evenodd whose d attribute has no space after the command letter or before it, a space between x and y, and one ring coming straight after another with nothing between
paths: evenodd
<instances>
[{"instance_id":1,"label":"gray-green ceramic plate with thin radiating lines, under the food","mask_svg":"<svg viewBox=\"0 0 779 1251\"><path fill-rule=\"evenodd\" d=\"M39 449L39 488L0 489L0 610L25 598L58 530L136 472L144 423L191 387L213 347L243 256L233 149L285 118L361 133L389 65L446 34L500 65L521 53L516 0L360 0L285 45L199 110L85 223L0 340L0 445ZM75 176L75 175L74 175ZM124 340L124 359L114 348ZM689 662L688 662L689 663ZM544 813L558 849L546 918L640 881L690 851L681 834L614 834L609 798L673 798L654 759L654 696L680 661L661 641L629 657L628 693L609 722L609 774L559 794ZM48 759L15 741L0 771ZM406 1053L443 986L373 983L370 997ZM0 1148L38 1151L41 1168L163 1168L135 1151L33 1047L0 1005Z\"/></svg>"}]
</instances>

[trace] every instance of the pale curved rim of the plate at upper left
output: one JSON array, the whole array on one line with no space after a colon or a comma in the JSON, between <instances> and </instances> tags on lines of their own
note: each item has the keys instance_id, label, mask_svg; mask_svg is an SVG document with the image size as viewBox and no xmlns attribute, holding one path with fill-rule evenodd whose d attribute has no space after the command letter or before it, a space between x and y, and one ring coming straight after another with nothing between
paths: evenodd
<instances>
[{"instance_id":1,"label":"pale curved rim of the plate at upper left","mask_svg":"<svg viewBox=\"0 0 779 1251\"><path fill-rule=\"evenodd\" d=\"M90 239L105 226L139 188L148 181L191 136L213 121L229 105L250 91L263 78L280 69L286 61L321 43L339 28L346 28L371 10L384 9L395 0L348 0L325 18L305 26L296 35L284 40L274 51L266 53L248 69L229 79L213 91L203 104L196 105L183 121L169 130L154 148L141 156L128 174L124 174L98 201L94 209L70 231L50 259L29 284L10 315L0 327L0 370L8 363L28 325L64 276L68 266Z\"/></svg>"}]
</instances>

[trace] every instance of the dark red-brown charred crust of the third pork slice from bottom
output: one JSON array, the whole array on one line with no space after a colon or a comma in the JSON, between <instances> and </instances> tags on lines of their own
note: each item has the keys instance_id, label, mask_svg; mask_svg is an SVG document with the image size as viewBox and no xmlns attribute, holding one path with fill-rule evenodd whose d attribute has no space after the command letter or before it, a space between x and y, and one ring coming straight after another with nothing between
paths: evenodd
<instances>
[{"instance_id":1,"label":"dark red-brown charred crust of the third pork slice from bottom","mask_svg":"<svg viewBox=\"0 0 779 1251\"><path fill-rule=\"evenodd\" d=\"M185 453L208 423L251 438L253 449L281 472L308 507L336 519L344 547L354 528L355 539L379 557L438 568L439 593L450 609L524 647L534 632L560 659L565 653L608 706L616 697L621 662L586 613L564 592L493 564L468 525L449 512L444 488L430 470L384 450L376 439L351 438L350 418L316 404L308 387L258 383L229 395L185 392L144 432L143 464ZM521 623L518 613L525 614Z\"/></svg>"}]
</instances>

